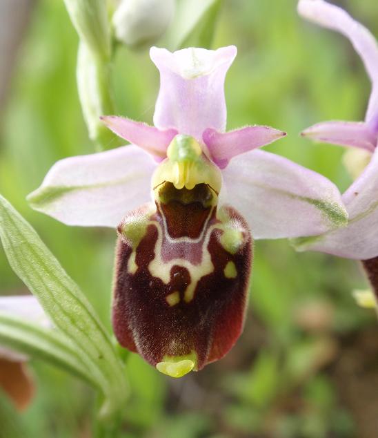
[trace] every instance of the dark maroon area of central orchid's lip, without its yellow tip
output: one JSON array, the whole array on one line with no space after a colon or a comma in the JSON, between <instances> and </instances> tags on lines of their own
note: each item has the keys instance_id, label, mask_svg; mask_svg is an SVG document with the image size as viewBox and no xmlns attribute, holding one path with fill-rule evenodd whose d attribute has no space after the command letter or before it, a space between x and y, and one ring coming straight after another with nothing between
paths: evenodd
<instances>
[{"instance_id":1,"label":"dark maroon area of central orchid's lip, without its yellow tip","mask_svg":"<svg viewBox=\"0 0 378 438\"><path fill-rule=\"evenodd\" d=\"M201 370L224 356L243 330L252 259L248 225L237 211L226 208L232 221L246 230L243 245L230 254L221 245L223 230L216 209L202 201L184 204L170 199L157 206L135 249L134 272L128 271L132 247L121 238L117 243L112 307L115 335L123 347L138 352L154 366L164 356L194 351L196 368ZM157 251L161 251L161 263L185 262L171 263L168 283L149 270ZM210 254L212 269L199 278L188 301L185 292L192 281L191 266L201 263L204 251ZM235 267L232 276L225 273L229 263ZM175 301L170 302L167 296L173 293Z\"/></svg>"}]
</instances>

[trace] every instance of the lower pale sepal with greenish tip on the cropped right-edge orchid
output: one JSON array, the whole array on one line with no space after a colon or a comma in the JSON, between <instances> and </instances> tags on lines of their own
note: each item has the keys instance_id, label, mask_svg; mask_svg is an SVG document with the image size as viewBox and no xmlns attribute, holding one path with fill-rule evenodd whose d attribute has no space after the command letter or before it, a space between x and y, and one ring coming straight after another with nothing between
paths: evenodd
<instances>
[{"instance_id":1,"label":"lower pale sepal with greenish tip on the cropped right-edge orchid","mask_svg":"<svg viewBox=\"0 0 378 438\"><path fill-rule=\"evenodd\" d=\"M378 256L378 151L343 195L348 226L318 238L302 239L299 249L364 260Z\"/></svg>"}]
</instances>

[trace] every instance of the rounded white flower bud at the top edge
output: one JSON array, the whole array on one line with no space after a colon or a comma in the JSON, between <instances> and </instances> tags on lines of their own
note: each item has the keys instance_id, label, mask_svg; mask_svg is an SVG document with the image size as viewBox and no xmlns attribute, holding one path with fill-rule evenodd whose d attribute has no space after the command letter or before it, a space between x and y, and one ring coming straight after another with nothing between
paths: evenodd
<instances>
[{"instance_id":1,"label":"rounded white flower bud at the top edge","mask_svg":"<svg viewBox=\"0 0 378 438\"><path fill-rule=\"evenodd\" d=\"M121 0L113 15L117 39L128 46L150 44L166 31L175 0Z\"/></svg>"}]
</instances>

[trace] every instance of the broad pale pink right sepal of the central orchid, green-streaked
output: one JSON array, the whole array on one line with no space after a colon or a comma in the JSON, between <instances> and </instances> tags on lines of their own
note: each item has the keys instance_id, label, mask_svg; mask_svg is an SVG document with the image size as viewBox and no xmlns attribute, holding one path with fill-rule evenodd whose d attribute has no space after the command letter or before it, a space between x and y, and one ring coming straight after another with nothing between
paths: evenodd
<instances>
[{"instance_id":1,"label":"broad pale pink right sepal of the central orchid, green-streaked","mask_svg":"<svg viewBox=\"0 0 378 438\"><path fill-rule=\"evenodd\" d=\"M254 238L313 236L346 223L335 184L279 155L250 151L222 173L221 202L241 212Z\"/></svg>"}]
</instances>

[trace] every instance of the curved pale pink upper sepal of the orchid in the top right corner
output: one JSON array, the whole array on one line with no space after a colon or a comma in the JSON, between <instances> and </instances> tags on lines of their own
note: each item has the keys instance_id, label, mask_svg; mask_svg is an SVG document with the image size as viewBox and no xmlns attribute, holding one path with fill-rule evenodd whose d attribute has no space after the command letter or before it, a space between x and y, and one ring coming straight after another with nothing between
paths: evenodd
<instances>
[{"instance_id":1,"label":"curved pale pink upper sepal of the orchid in the top right corner","mask_svg":"<svg viewBox=\"0 0 378 438\"><path fill-rule=\"evenodd\" d=\"M350 40L372 81L366 122L376 124L378 131L378 44L375 37L346 11L323 0L299 0L298 12L320 26L337 30Z\"/></svg>"}]
</instances>

